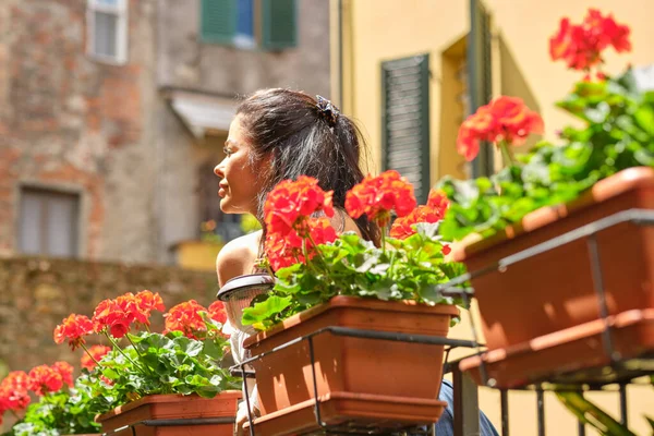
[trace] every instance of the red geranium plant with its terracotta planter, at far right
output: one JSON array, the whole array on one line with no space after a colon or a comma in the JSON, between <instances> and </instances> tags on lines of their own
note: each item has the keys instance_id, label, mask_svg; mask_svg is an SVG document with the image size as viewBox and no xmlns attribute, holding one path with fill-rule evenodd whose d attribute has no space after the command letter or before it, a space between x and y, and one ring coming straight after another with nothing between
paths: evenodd
<instances>
[{"instance_id":1,"label":"red geranium plant with its terracotta planter, at far right","mask_svg":"<svg viewBox=\"0 0 654 436\"><path fill-rule=\"evenodd\" d=\"M541 142L513 154L530 132L542 133L542 121L512 97L480 108L460 128L457 146L469 160L487 141L506 165L491 178L439 183L451 202L439 230L446 239L463 239L453 256L472 274L497 386L615 358L601 347L606 324L586 239L508 267L497 263L621 210L654 208L654 93L632 69L615 77L600 71L602 51L629 50L628 37L627 26L595 10L579 25L561 21L552 57L586 72L557 104L583 123L564 129L562 144ZM622 222L594 241L608 323L616 327L613 346L625 358L638 355L654 347L654 228ZM472 359L461 367L480 363Z\"/></svg>"}]
</instances>

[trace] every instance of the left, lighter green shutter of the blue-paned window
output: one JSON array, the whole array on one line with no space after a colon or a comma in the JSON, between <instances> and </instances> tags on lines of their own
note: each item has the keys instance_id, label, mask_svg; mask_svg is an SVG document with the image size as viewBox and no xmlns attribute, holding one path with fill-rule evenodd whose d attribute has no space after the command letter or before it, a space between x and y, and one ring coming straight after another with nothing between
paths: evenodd
<instances>
[{"instance_id":1,"label":"left, lighter green shutter of the blue-paned window","mask_svg":"<svg viewBox=\"0 0 654 436\"><path fill-rule=\"evenodd\" d=\"M201 38L205 43L231 44L237 26L237 0L202 0Z\"/></svg>"}]
</instances>

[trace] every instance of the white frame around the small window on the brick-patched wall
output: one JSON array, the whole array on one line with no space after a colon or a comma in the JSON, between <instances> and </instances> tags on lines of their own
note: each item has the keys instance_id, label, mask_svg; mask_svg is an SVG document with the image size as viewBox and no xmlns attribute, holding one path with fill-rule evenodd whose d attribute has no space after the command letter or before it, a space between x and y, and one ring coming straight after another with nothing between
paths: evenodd
<instances>
[{"instance_id":1,"label":"white frame around the small window on the brick-patched wall","mask_svg":"<svg viewBox=\"0 0 654 436\"><path fill-rule=\"evenodd\" d=\"M129 0L117 0L116 7L101 3L102 0L86 0L86 55L99 62L112 65L128 63L129 43ZM95 52L95 12L104 12L117 16L116 21L116 56Z\"/></svg>"}]
</instances>

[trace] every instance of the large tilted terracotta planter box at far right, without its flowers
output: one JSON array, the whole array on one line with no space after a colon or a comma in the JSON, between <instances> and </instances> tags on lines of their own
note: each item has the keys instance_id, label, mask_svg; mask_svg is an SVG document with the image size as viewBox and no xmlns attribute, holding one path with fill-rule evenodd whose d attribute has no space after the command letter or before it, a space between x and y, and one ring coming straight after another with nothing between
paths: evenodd
<instances>
[{"instance_id":1,"label":"large tilted terracotta planter box at far right, without its flowers","mask_svg":"<svg viewBox=\"0 0 654 436\"><path fill-rule=\"evenodd\" d=\"M468 246L455 258L469 271L601 218L654 209L654 170L631 168L597 182L577 201L526 215L520 226ZM620 223L596 237L608 313L654 307L654 227ZM588 241L560 245L472 280L489 350L565 330L601 317Z\"/></svg>"}]
</instances>

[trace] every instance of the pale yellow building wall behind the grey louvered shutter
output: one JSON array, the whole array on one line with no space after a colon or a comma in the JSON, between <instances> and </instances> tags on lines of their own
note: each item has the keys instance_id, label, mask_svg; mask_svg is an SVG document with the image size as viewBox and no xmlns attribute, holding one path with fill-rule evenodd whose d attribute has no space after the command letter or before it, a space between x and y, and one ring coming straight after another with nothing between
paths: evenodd
<instances>
[{"instance_id":1,"label":"pale yellow building wall behind the grey louvered shutter","mask_svg":"<svg viewBox=\"0 0 654 436\"><path fill-rule=\"evenodd\" d=\"M462 160L452 149L457 126L452 124L450 111L455 108L451 101L455 92L448 84L451 83L452 57L458 56L461 39L469 31L469 0L341 1L341 107L359 122L366 136L372 154L371 171L379 170L382 159L380 62L428 52L432 72L431 179L434 183L448 173L463 177ZM494 28L494 95L522 97L543 116L548 140L555 140L554 132L571 122L565 112L554 107L554 102L581 77L580 73L567 71L562 62L554 63L549 59L548 39L558 28L561 16L579 22L588 8L593 7L613 12L618 22L631 26L633 52L618 56L608 50L606 72L618 73L629 62L634 65L654 63L653 0L487 0L485 4ZM335 62L338 57L332 58ZM471 336L465 318L455 328L453 336ZM594 393L590 398L617 416L617 395ZM654 414L654 388L630 387L628 398L631 428L638 434L651 434L642 415L645 412ZM499 431L499 393L482 389L481 405ZM535 435L535 396L511 392L509 408L511 433ZM546 427L550 435L577 434L572 415L550 396L546 397ZM589 429L588 434L593 432Z\"/></svg>"}]
</instances>

